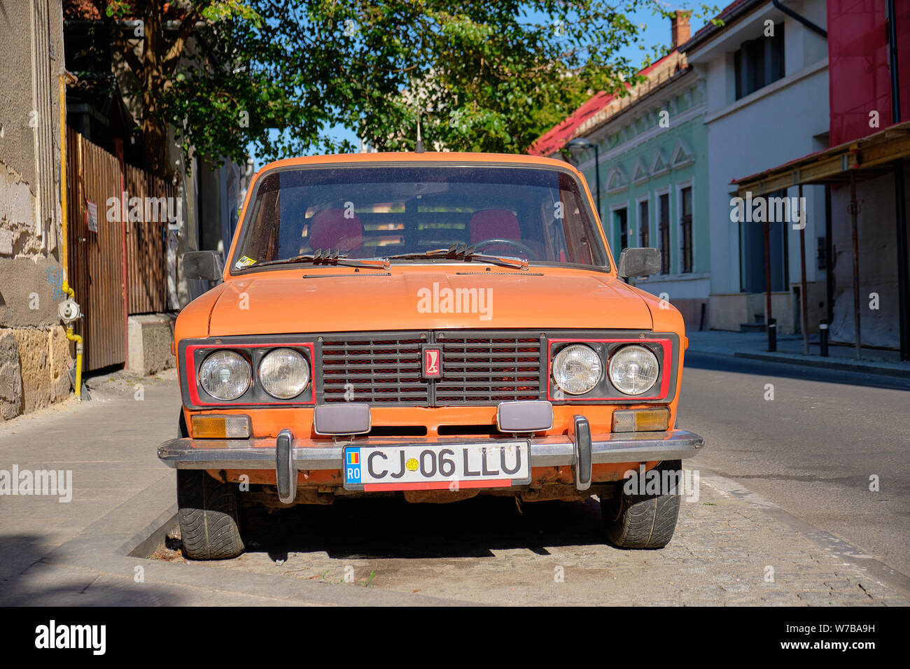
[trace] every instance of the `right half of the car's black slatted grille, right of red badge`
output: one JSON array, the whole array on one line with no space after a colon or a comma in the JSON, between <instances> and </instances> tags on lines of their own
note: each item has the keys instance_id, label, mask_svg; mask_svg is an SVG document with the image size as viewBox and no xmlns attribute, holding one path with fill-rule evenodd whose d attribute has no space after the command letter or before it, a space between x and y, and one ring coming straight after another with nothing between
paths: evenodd
<instances>
[{"instance_id":1,"label":"right half of the car's black slatted grille, right of red badge","mask_svg":"<svg viewBox=\"0 0 910 669\"><path fill-rule=\"evenodd\" d=\"M540 399L541 340L537 337L446 333L436 343L442 348L437 404Z\"/></svg>"}]
</instances>

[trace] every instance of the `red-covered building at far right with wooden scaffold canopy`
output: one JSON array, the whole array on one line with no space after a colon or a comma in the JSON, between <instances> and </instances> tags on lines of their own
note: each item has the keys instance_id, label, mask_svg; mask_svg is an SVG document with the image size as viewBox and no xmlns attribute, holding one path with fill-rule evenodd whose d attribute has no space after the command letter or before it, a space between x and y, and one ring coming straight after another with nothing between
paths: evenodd
<instances>
[{"instance_id":1,"label":"red-covered building at far right with wooden scaffold canopy","mask_svg":"<svg viewBox=\"0 0 910 669\"><path fill-rule=\"evenodd\" d=\"M830 147L741 176L736 188L824 188L827 239L817 255L829 339L853 345L856 357L874 347L910 360L910 5L833 0L826 19ZM814 104L812 93L804 97ZM808 316L812 328L816 314Z\"/></svg>"}]
</instances>

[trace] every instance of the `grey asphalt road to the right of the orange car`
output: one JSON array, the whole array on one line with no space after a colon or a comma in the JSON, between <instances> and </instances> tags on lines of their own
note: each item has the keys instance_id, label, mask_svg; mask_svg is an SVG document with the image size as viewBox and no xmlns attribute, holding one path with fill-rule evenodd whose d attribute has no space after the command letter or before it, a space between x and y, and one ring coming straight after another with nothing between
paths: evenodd
<instances>
[{"instance_id":1,"label":"grey asphalt road to the right of the orange car","mask_svg":"<svg viewBox=\"0 0 910 669\"><path fill-rule=\"evenodd\" d=\"M678 424L705 441L688 466L910 574L910 380L689 353Z\"/></svg>"}]
</instances>

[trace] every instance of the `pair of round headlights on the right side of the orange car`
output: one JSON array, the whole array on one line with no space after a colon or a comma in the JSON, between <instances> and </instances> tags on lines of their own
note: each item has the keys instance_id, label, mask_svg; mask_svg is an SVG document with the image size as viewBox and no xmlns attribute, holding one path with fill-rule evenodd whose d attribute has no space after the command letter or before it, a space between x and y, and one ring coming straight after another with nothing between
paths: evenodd
<instances>
[{"instance_id":1,"label":"pair of round headlights on the right side of the orange car","mask_svg":"<svg viewBox=\"0 0 910 669\"><path fill-rule=\"evenodd\" d=\"M572 344L553 358L557 387L570 395L583 395L597 387L603 376L600 354L584 344ZM642 395L660 376L660 365L651 350L639 344L622 346L607 361L610 382L626 395Z\"/></svg>"}]
</instances>

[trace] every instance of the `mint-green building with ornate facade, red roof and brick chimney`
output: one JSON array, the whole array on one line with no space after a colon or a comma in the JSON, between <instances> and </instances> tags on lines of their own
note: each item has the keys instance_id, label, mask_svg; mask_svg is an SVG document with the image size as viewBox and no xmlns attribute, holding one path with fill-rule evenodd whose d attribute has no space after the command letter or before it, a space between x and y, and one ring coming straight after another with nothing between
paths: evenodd
<instances>
[{"instance_id":1,"label":"mint-green building with ornate facade, red roof and brick chimney","mask_svg":"<svg viewBox=\"0 0 910 669\"><path fill-rule=\"evenodd\" d=\"M676 15L671 28L674 47L688 40L687 15ZM640 74L646 81L628 96L593 96L531 152L560 157L569 147L599 199L614 254L661 250L659 274L630 280L680 309L687 328L705 328L711 290L705 82L676 48ZM579 139L581 150L570 146Z\"/></svg>"}]
</instances>

